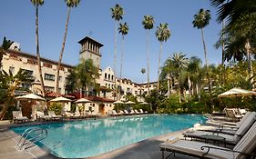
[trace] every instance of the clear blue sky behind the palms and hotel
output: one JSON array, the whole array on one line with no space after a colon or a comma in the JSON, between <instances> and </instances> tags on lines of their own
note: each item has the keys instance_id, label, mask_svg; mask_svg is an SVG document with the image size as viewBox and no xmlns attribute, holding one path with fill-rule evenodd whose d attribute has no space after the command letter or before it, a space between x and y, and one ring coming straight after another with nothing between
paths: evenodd
<instances>
[{"instance_id":1,"label":"clear blue sky behind the palms and hotel","mask_svg":"<svg viewBox=\"0 0 256 159\"><path fill-rule=\"evenodd\" d=\"M193 15L200 8L209 9L210 25L205 28L205 40L210 64L221 63L221 50L213 45L219 38L221 25L216 22L216 8L210 0L81 0L71 10L67 44L63 62L77 65L80 45L77 43L90 36L104 46L101 48L101 68L114 63L115 21L110 8L122 5L125 11L122 22L129 26L125 36L123 76L134 82L147 81L147 74L140 73L147 68L146 31L141 25L144 15L153 15L156 24L149 33L150 81L157 80L159 41L155 36L157 25L168 23L171 36L163 45L161 65L173 53L182 52L188 57L198 56L204 62L200 30L193 28ZM0 39L6 36L21 45L22 51L36 55L35 7L30 0L8 0L0 5ZM45 0L39 8L39 43L41 56L58 60L67 18L64 0ZM118 35L119 73L121 35Z\"/></svg>"}]
</instances>

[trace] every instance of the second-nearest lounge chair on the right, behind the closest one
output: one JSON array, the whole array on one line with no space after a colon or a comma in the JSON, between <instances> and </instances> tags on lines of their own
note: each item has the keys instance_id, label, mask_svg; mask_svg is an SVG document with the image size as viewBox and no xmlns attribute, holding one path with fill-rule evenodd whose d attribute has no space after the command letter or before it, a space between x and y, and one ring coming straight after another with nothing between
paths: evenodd
<instances>
[{"instance_id":1,"label":"second-nearest lounge chair on the right, behind the closest one","mask_svg":"<svg viewBox=\"0 0 256 159\"><path fill-rule=\"evenodd\" d=\"M252 113L251 113L252 114ZM183 133L185 139L187 137L192 139L203 139L203 140L212 140L213 142L220 142L223 144L237 144L241 137L250 129L251 125L255 123L256 113L249 115L245 119L244 124L237 129L235 134L223 134L221 131L216 132L205 132L205 131L186 131Z\"/></svg>"}]
</instances>

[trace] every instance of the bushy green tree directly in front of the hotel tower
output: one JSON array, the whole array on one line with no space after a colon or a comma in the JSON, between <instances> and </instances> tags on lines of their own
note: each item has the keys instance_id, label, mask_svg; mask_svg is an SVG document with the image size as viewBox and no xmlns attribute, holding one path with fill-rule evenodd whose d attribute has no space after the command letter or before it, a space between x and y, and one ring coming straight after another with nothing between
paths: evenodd
<instances>
[{"instance_id":1,"label":"bushy green tree directly in front of the hotel tower","mask_svg":"<svg viewBox=\"0 0 256 159\"><path fill-rule=\"evenodd\" d=\"M93 65L92 59L83 61L81 64L77 65L75 69L77 74L77 87L85 90L87 96L87 89L96 84L96 79L99 76L98 69Z\"/></svg>"}]
</instances>

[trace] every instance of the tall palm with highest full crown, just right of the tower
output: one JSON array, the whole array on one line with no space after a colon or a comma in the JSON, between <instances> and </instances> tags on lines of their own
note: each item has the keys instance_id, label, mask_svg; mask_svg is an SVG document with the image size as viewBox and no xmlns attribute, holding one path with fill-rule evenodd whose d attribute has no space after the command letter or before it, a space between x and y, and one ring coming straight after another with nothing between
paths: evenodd
<instances>
[{"instance_id":1,"label":"tall palm with highest full crown, just right of the tower","mask_svg":"<svg viewBox=\"0 0 256 159\"><path fill-rule=\"evenodd\" d=\"M122 6L116 4L115 7L111 8L111 16L116 21L115 25L115 52L114 52L114 74L116 75L116 63L117 63L117 32L118 32L118 21L123 19L125 15ZM117 82L115 79L115 93L117 93Z\"/></svg>"}]
</instances>

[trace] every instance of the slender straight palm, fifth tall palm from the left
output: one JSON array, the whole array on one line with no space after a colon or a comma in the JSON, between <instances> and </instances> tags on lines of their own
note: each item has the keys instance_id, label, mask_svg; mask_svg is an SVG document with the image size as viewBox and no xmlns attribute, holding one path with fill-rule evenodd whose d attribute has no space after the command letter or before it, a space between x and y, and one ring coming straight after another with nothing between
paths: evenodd
<instances>
[{"instance_id":1,"label":"slender straight palm, fifth tall palm from the left","mask_svg":"<svg viewBox=\"0 0 256 159\"><path fill-rule=\"evenodd\" d=\"M144 29L147 30L147 60L148 60L148 94L149 94L149 48L148 48L148 31L154 27L154 17L152 15L145 15L142 21Z\"/></svg>"}]
</instances>

